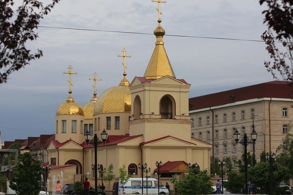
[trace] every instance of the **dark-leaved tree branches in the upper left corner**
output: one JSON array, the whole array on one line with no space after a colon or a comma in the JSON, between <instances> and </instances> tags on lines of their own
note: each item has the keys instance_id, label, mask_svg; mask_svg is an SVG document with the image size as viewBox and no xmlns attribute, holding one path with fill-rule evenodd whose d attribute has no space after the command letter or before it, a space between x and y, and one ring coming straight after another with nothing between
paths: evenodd
<instances>
[{"instance_id":1,"label":"dark-leaved tree branches in the upper left corner","mask_svg":"<svg viewBox=\"0 0 293 195\"><path fill-rule=\"evenodd\" d=\"M18 2L19 0L17 0ZM23 0L22 5L14 12L14 0L0 1L0 83L6 83L8 76L29 64L29 61L40 58L41 50L31 53L26 48L28 40L36 40L40 19L47 15L60 0L44 6L38 0Z\"/></svg>"}]
</instances>

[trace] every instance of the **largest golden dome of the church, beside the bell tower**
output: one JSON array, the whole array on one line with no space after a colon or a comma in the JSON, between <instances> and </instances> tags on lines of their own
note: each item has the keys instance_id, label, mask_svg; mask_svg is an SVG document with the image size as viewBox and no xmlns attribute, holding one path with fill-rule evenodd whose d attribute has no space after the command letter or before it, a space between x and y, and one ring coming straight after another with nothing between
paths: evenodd
<instances>
[{"instance_id":1,"label":"largest golden dome of the church, beside the bell tower","mask_svg":"<svg viewBox=\"0 0 293 195\"><path fill-rule=\"evenodd\" d=\"M128 85L120 84L107 89L95 103L94 115L119 112L131 112L131 94Z\"/></svg>"}]
</instances>

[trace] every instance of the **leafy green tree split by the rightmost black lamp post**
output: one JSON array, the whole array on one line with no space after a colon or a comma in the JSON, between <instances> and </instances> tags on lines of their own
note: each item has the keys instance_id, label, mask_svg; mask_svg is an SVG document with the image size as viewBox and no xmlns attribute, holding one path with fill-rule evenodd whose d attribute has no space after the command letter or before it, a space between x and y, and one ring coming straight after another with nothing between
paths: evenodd
<instances>
[{"instance_id":1,"label":"leafy green tree split by the rightmost black lamp post","mask_svg":"<svg viewBox=\"0 0 293 195\"><path fill-rule=\"evenodd\" d=\"M280 165L279 163L273 163L273 178L274 178L274 190L284 179L288 179L288 168ZM252 180L255 186L261 189L261 193L269 194L269 163L259 162L254 167L248 169L249 179Z\"/></svg>"}]
</instances>

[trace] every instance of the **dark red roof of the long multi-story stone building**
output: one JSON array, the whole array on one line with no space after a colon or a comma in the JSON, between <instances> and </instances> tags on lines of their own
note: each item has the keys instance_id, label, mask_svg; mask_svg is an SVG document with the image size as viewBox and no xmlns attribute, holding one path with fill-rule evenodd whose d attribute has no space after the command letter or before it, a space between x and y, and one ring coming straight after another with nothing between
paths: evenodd
<instances>
[{"instance_id":1,"label":"dark red roof of the long multi-story stone building","mask_svg":"<svg viewBox=\"0 0 293 195\"><path fill-rule=\"evenodd\" d=\"M189 110L209 108L255 98L293 98L293 86L286 81L270 81L189 98ZM230 98L231 96L231 98Z\"/></svg>"}]
</instances>

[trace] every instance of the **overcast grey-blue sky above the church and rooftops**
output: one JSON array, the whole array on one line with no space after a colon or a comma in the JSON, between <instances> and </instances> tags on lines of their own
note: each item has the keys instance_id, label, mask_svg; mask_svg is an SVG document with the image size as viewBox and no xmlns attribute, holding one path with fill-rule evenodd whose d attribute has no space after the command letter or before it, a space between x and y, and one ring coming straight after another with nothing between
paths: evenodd
<instances>
[{"instance_id":1,"label":"overcast grey-blue sky above the church and rooftops","mask_svg":"<svg viewBox=\"0 0 293 195\"><path fill-rule=\"evenodd\" d=\"M61 0L40 25L153 33L156 8L151 0ZM260 40L264 9L258 0L167 0L161 24L171 35ZM62 73L69 65L78 72L72 76L72 97L82 106L92 98L88 79L94 72L102 79L98 95L119 84L123 59L117 55L123 48L132 56L126 59L129 82L143 76L156 41L154 35L48 28L38 34L27 45L44 56L0 85L2 142L54 133L56 109L68 97L68 75ZM190 97L273 80L263 65L269 55L262 42L169 36L164 42L176 77L191 83Z\"/></svg>"}]
</instances>

